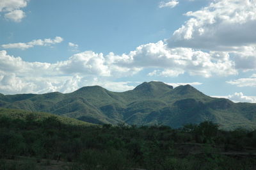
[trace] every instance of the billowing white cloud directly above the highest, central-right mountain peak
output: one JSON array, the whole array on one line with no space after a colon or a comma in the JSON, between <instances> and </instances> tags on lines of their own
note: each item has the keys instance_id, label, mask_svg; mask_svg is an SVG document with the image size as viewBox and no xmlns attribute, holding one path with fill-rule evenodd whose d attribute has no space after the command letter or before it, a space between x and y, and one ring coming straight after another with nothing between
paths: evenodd
<instances>
[{"instance_id":1,"label":"billowing white cloud directly above the highest, central-right mountain peak","mask_svg":"<svg viewBox=\"0 0 256 170\"><path fill-rule=\"evenodd\" d=\"M115 59L118 66L163 68L164 71L160 75L164 76L168 76L168 73L175 76L184 72L204 77L237 73L234 62L225 52L202 52L189 48L170 49L162 41L140 45L136 50L123 55L122 58L119 56ZM157 71L149 75L156 73Z\"/></svg>"}]
</instances>

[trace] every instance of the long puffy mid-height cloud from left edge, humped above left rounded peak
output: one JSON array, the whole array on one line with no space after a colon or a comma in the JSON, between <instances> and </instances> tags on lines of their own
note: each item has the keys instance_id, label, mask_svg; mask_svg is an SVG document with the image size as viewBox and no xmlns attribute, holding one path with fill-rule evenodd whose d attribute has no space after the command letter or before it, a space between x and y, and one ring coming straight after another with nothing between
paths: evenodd
<instances>
[{"instance_id":1,"label":"long puffy mid-height cloud from left edge, humped above left rounded peak","mask_svg":"<svg viewBox=\"0 0 256 170\"><path fill-rule=\"evenodd\" d=\"M74 54L65 61L57 63L40 63L40 62L26 62L20 57L13 57L7 54L5 50L0 51L0 72L15 72L17 76L22 77L37 77L45 75L96 75L101 77L120 77L125 75L132 75L140 69L123 68L115 65L115 63L108 63L107 56L102 53L97 54L92 51L85 51Z\"/></svg>"}]
</instances>

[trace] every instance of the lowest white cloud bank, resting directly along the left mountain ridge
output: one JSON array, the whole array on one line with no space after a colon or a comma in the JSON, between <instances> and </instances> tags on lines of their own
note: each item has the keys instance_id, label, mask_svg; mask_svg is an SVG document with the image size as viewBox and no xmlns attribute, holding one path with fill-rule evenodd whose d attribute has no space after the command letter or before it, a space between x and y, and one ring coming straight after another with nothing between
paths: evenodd
<instances>
[{"instance_id":1,"label":"lowest white cloud bank, resting directly along the left mountain ridge","mask_svg":"<svg viewBox=\"0 0 256 170\"><path fill-rule=\"evenodd\" d=\"M15 73L0 76L0 91L4 94L16 93L49 93L60 91L70 93L83 86L99 85L110 91L127 91L134 89L131 82L113 82L97 77L52 76L52 77L18 77Z\"/></svg>"}]
</instances>

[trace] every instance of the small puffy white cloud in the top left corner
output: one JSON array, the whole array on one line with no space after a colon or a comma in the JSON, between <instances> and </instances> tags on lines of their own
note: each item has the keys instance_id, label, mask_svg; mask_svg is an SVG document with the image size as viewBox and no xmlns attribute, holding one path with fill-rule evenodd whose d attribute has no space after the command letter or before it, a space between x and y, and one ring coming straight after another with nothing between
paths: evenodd
<instances>
[{"instance_id":1,"label":"small puffy white cloud in the top left corner","mask_svg":"<svg viewBox=\"0 0 256 170\"><path fill-rule=\"evenodd\" d=\"M0 1L0 12L4 13L4 17L14 22L20 22L24 17L25 13L20 10L27 6L29 0L1 0Z\"/></svg>"}]
</instances>

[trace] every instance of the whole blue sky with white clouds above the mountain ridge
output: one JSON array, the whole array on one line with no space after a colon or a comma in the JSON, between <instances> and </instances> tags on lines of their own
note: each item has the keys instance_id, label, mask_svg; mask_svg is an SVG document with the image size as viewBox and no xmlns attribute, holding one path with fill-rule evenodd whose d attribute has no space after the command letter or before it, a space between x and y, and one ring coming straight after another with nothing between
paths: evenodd
<instances>
[{"instance_id":1,"label":"whole blue sky with white clouds above the mountain ridge","mask_svg":"<svg viewBox=\"0 0 256 170\"><path fill-rule=\"evenodd\" d=\"M0 93L191 84L256 103L256 0L0 0Z\"/></svg>"}]
</instances>

